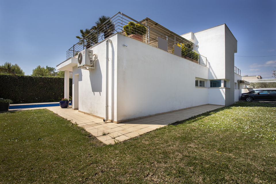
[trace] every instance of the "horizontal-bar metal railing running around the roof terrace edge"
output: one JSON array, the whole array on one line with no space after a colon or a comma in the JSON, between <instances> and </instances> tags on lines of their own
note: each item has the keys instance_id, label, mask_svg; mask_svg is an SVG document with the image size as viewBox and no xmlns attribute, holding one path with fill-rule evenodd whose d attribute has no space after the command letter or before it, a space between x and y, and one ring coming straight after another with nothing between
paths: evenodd
<instances>
[{"instance_id":1,"label":"horizontal-bar metal railing running around the roof terrace edge","mask_svg":"<svg viewBox=\"0 0 276 184\"><path fill-rule=\"evenodd\" d=\"M66 51L66 58L68 59L70 57L74 57L75 55L78 54L78 52L82 51L83 49L85 48L88 49L93 45L100 43L101 41L103 41L104 39L110 37L115 33L121 33L126 35L126 33L128 32L124 31L123 27L131 21L136 24L145 26L146 31L144 30L143 27L141 27L140 29L139 28L137 29L137 34L141 33L141 35L143 35L140 41L143 41L144 43L147 43L154 47L158 47L158 37L165 39L167 41L168 52L170 53L174 52L174 49L173 49L174 45L177 45L177 44L182 45L187 43L185 39L176 42L175 37L170 38L166 36L166 34L161 33L153 28L150 28L149 26L146 26L145 24L142 24L141 22L138 22L137 20L134 20L129 16L122 14L121 12L118 12L117 14L112 16L109 20L107 20L102 26L92 27L92 29L90 30L91 32L88 35L79 39L78 43L74 44L70 49L68 49L68 51ZM129 35L129 37L131 37L131 35ZM132 38L137 39L135 36L133 36ZM204 57L203 55L200 55L196 51L193 51L187 47L183 46L181 48L181 56L188 60L196 62L200 65L203 65L203 66L207 65L206 57Z\"/></svg>"}]
</instances>

